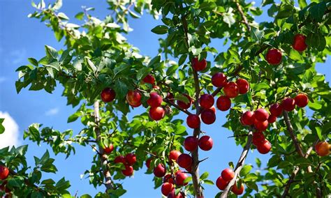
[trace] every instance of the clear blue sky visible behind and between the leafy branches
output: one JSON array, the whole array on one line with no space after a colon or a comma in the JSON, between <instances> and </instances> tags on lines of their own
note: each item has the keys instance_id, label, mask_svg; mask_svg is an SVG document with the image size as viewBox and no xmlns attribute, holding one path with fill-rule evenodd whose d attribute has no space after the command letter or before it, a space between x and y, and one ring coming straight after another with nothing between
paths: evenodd
<instances>
[{"instance_id":1,"label":"clear blue sky visible behind and between the leafy branches","mask_svg":"<svg viewBox=\"0 0 331 198\"><path fill-rule=\"evenodd\" d=\"M73 19L75 14L81 11L81 6L96 8L91 14L101 19L110 12L106 9L108 5L103 0L64 1L61 12L66 13L68 17ZM27 158L29 159L29 165L32 166L34 166L34 155L41 157L46 149L50 151L51 149L47 145L39 147L27 140L23 141L23 131L31 123L43 123L45 126L52 126L57 130L72 128L75 132L78 132L81 128L79 121L77 123L66 123L68 116L73 114L75 109L66 106L66 98L61 97L63 90L61 87L57 87L53 94L45 91L23 89L17 95L15 91L15 80L17 79L15 69L27 64L27 58L41 59L45 56L44 45L50 45L57 50L63 48L63 43L57 43L49 28L38 20L27 17L33 11L30 1L0 0L0 112L8 112L17 123L19 144L29 144ZM260 22L266 19L265 12L256 20ZM73 22L76 21L73 20ZM157 24L161 24L161 20L154 20L151 16L144 15L139 20L131 20L130 24L134 31L127 36L129 43L140 48L142 54L156 56L159 47L159 36L152 33L150 29ZM222 43L222 40L213 40L212 46L220 52L224 50ZM325 74L328 82L330 82L331 73L327 66L330 67L330 65L331 61L328 59L327 63L318 64L317 66L318 72ZM240 146L235 145L233 139L227 138L232 135L232 132L221 127L225 122L226 113L218 111L216 116L216 123L203 125L203 130L214 139L214 148L209 152L200 152L201 159L209 157L201 164L200 173L208 171L209 178L213 181L216 181L222 169L228 167L228 162L237 162L237 158L239 158L242 151ZM186 119L183 114L180 114L179 117ZM189 130L189 132L191 131ZM1 138L3 137L0 135ZM70 191L73 195L76 192L78 192L78 195L85 193L95 195L98 191L104 191L104 187L96 190L92 185L89 185L88 179L80 179L80 174L89 169L94 152L89 147L76 146L76 148L76 154L66 160L64 155L57 155L55 165L57 165L59 172L57 174L45 174L44 178L50 177L57 181L65 176L66 179L71 181ZM254 159L260 158L263 165L265 165L269 157L269 155L261 155L253 151L253 153L249 153L247 163L255 165ZM161 190L154 190L153 188L153 176L144 174L145 171L144 167L139 172L135 172L132 178L124 180L124 188L128 190L124 197L141 197L137 193L142 192L142 190L144 197L161 197ZM214 197L217 192L219 190L216 186L205 185L205 197Z\"/></svg>"}]
</instances>

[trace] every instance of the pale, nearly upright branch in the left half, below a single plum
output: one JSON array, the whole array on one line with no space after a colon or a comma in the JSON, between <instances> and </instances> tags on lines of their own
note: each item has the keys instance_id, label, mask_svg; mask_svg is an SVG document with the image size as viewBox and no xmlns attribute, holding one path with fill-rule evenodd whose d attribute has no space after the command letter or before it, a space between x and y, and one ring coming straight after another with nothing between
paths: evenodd
<instances>
[{"instance_id":1,"label":"pale, nearly upright branch in the left half, below a single plum","mask_svg":"<svg viewBox=\"0 0 331 198\"><path fill-rule=\"evenodd\" d=\"M96 100L94 102L94 119L95 119L95 123L96 123L96 128L95 128L95 132L96 132L96 142L101 142L101 132L100 132L100 128L99 128L99 122L100 122L100 114L99 114L99 102L98 100ZM112 177L110 175L110 172L107 168L107 155L105 155L105 153L103 153L103 148L102 146L100 146L100 144L98 144L98 153L100 153L100 160L101 160L101 167L103 169L103 176L105 176L105 188L106 191L110 190L110 189L114 189L114 186L112 185Z\"/></svg>"}]
</instances>

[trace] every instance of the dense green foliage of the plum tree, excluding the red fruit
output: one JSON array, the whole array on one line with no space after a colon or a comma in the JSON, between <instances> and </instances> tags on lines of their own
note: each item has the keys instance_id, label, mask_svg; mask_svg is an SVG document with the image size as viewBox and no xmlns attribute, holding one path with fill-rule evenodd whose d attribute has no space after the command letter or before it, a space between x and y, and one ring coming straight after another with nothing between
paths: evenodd
<instances>
[{"instance_id":1,"label":"dense green foliage of the plum tree, excluding the red fruit","mask_svg":"<svg viewBox=\"0 0 331 198\"><path fill-rule=\"evenodd\" d=\"M170 100L164 100L162 104L167 114L161 121L150 119L145 110L128 120L126 114L131 112L131 108L126 102L126 93L130 90L142 93L142 106L146 108L151 91L158 91L163 98L171 92L174 100L184 102L187 100L183 97L185 93L198 101L199 94L203 93L223 95L220 89L214 92L211 83L211 76L221 72L228 75L230 81L238 77L247 79L251 87L248 93L231 101L233 107L223 125L233 131L238 145L247 145L247 134L251 130L240 123L243 112L258 107L268 109L273 103L294 97L297 93L307 94L309 111L312 111L309 113L311 116L307 116L307 109L304 108L289 112L291 128L304 153L316 141L330 139L330 86L325 82L324 75L318 74L315 68L316 63L325 62L331 53L330 2L311 1L308 5L300 0L297 8L294 1L287 0L280 3L265 0L261 7L245 1L227 0L108 1L113 15L100 20L90 14L93 8L83 8L75 15L82 20L82 24L70 23L69 18L59 12L61 4L61 0L50 6L43 1L38 5L33 3L36 12L29 17L46 22L57 40L64 40L65 46L64 50L56 50L46 45L45 57L40 60L30 58L29 65L17 68L19 79L16 89L20 92L29 86L32 91L44 89L52 93L56 86L63 86L63 96L67 98L68 105L80 106L75 114L68 117L68 122L80 119L84 128L80 132L60 132L41 128L41 124L34 123L24 132L24 138L37 144L50 144L55 154L66 153L67 157L75 153L75 144L90 145L97 151L91 169L85 172L91 184L94 187L103 185L108 179L105 172L112 178L112 188L97 196L119 197L126 192L125 186L119 182L125 177L122 174L124 165L113 163L119 155L135 153L138 162L133 169L136 171L147 159L152 159L147 174L152 174L152 169L162 163L173 176L179 167L168 160L168 155L172 150L184 153L184 136L192 133L186 130L184 121L176 117L182 109L173 107L175 105ZM267 15L274 19L273 22L254 21L254 16L263 13L262 7L268 7ZM166 34L159 39L159 54L152 59L139 54L139 50L127 43L124 37L124 33L131 31L128 15L135 18L144 12L161 17L162 24L154 27L152 32ZM297 33L307 36L308 48L304 52L297 52L292 47ZM223 51L208 46L213 39L223 40ZM281 50L283 54L277 66L265 60L266 51L272 48ZM194 57L209 60L207 68L198 74L191 67ZM154 75L159 88L142 83L147 74ZM115 90L116 99L108 103L100 102L98 119L95 102L100 101L100 93L105 87ZM200 107L197 104L193 109L198 112ZM256 167L243 165L237 184L247 186L244 196L280 197L295 167L300 170L295 183L290 185L291 196L315 197L319 193L316 189L324 196L330 194L330 156L321 158L314 151L307 158L298 155L289 130L285 117L281 117L265 131L272 144L272 155L267 167L261 167L258 159ZM115 146L115 151L105 155L102 148L109 144ZM13 190L13 194L20 196L20 193L26 192L24 190L42 194L40 196L67 194L66 189L70 185L64 180L58 183L40 181L41 172L56 171L52 165L54 160L49 158L48 153L41 159L36 158L34 172L26 173L26 148L0 151L3 155L1 164L16 171L8 179L8 188ZM233 162L230 165L234 166ZM24 185L27 182L33 186ZM156 188L162 182L161 178L154 178ZM176 192L196 195L200 193L197 186L214 184L208 179L207 172L200 176L192 174L186 182L189 185L177 186ZM36 187L35 184L41 185ZM221 192L216 196L219 195Z\"/></svg>"}]
</instances>

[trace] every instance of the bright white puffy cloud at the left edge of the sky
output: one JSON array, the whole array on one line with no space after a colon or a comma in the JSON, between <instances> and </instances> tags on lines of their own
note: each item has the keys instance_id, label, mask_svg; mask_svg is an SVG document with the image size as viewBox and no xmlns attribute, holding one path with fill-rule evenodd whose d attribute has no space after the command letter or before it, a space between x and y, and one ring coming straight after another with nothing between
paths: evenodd
<instances>
[{"instance_id":1,"label":"bright white puffy cloud at the left edge of the sky","mask_svg":"<svg viewBox=\"0 0 331 198\"><path fill-rule=\"evenodd\" d=\"M8 112L0 112L0 118L5 119L2 123L5 127L5 132L0 134L0 148L19 145L19 130L15 120L8 114Z\"/></svg>"}]
</instances>

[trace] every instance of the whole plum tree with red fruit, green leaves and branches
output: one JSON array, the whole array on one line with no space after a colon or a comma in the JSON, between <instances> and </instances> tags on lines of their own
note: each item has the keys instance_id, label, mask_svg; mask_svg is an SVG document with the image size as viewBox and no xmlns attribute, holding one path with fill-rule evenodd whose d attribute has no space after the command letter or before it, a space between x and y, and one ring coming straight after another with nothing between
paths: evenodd
<instances>
[{"instance_id":1,"label":"whole plum tree with red fruit, green leaves and branches","mask_svg":"<svg viewBox=\"0 0 331 198\"><path fill-rule=\"evenodd\" d=\"M242 147L242 153L231 153L238 162L229 162L217 178L214 189L221 192L216 197L331 193L331 91L316 71L316 63L331 52L329 1L107 3L112 11L104 20L83 8L75 15L80 24L60 11L61 0L47 6L32 3L36 11L29 17L47 22L64 47L45 45L44 57L29 58L17 68L17 93L28 86L52 93L61 86L68 105L77 109L68 123L80 119L83 126L79 132L60 132L34 123L24 138L49 144L54 154L67 157L75 146L91 146L96 154L84 174L94 187L106 189L96 197L124 195L121 180L130 179L144 162L163 195L204 197L204 186L214 181L208 172L200 174L200 164L209 159L200 159L199 152L221 144L212 141L214 132L203 135L204 123L223 119L223 127L233 132L228 141ZM263 9L273 20L255 22ZM143 56L125 39L128 22L142 13L161 17L151 30L164 35L154 57ZM212 40L222 40L224 47L212 47ZM226 117L216 118L215 98ZM127 116L137 107L141 114ZM110 144L112 151L104 150ZM257 158L256 166L245 165L251 149L268 153L268 161ZM41 180L41 172L57 171L48 151L35 158L29 172L26 150L0 150L0 185L10 190L0 195L71 197L64 178Z\"/></svg>"}]
</instances>

